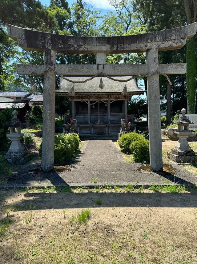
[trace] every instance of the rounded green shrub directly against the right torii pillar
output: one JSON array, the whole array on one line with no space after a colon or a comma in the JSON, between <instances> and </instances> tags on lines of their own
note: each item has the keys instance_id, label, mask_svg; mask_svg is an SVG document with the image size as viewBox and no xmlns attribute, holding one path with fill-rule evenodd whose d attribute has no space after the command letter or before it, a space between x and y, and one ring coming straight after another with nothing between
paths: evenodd
<instances>
[{"instance_id":1,"label":"rounded green shrub directly against the right torii pillar","mask_svg":"<svg viewBox=\"0 0 197 264\"><path fill-rule=\"evenodd\" d=\"M131 143L130 150L136 162L149 163L149 141L141 138Z\"/></svg>"}]
</instances>

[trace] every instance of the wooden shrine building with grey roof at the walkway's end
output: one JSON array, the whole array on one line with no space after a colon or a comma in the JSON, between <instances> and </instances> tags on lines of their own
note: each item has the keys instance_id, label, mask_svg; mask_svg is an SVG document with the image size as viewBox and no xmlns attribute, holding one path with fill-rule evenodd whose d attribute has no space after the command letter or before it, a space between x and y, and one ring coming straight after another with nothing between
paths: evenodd
<instances>
[{"instance_id":1,"label":"wooden shrine building with grey roof at the walkway's end","mask_svg":"<svg viewBox=\"0 0 197 264\"><path fill-rule=\"evenodd\" d=\"M72 81L84 81L91 76L66 76ZM113 76L125 80L131 76ZM121 119L131 121L131 131L135 130L134 115L128 115L128 100L133 95L141 95L136 79L127 82L127 94L123 94L125 82L102 77L103 89L99 88L101 77L86 83L75 83L74 94L70 95L73 83L61 78L56 96L66 96L70 101L69 115L64 116L64 124L77 120L79 134L118 134Z\"/></svg>"}]
</instances>

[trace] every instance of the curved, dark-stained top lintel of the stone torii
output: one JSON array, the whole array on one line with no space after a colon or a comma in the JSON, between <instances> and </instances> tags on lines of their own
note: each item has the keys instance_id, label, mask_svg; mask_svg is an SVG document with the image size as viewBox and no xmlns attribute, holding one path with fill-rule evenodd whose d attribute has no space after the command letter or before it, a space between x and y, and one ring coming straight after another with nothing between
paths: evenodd
<instances>
[{"instance_id":1,"label":"curved, dark-stained top lintel of the stone torii","mask_svg":"<svg viewBox=\"0 0 197 264\"><path fill-rule=\"evenodd\" d=\"M186 40L195 35L197 22L157 32L112 37L81 37L40 32L6 24L8 34L25 50L53 49L57 53L96 54L146 52L156 48L159 51L180 49Z\"/></svg>"}]
</instances>

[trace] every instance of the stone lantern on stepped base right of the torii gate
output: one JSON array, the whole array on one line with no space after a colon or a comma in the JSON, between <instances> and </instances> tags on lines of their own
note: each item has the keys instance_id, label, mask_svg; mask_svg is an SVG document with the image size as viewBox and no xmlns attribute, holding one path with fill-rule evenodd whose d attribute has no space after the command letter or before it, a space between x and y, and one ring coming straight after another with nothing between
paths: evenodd
<instances>
[{"instance_id":1,"label":"stone lantern on stepped base right of the torii gate","mask_svg":"<svg viewBox=\"0 0 197 264\"><path fill-rule=\"evenodd\" d=\"M181 117L177 121L173 121L174 124L178 124L178 131L175 134L179 138L172 152L167 152L167 156L177 163L195 163L197 162L197 155L190 148L187 138L192 135L189 131L189 124L192 124L186 117L186 109L181 110Z\"/></svg>"}]
</instances>

